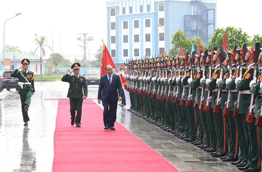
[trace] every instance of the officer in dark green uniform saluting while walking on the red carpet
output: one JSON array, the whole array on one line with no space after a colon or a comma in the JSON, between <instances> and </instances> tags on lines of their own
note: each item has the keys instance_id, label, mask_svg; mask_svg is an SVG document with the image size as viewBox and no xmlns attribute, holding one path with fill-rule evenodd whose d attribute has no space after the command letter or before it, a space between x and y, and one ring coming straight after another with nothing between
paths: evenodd
<instances>
[{"instance_id":1,"label":"officer in dark green uniform saluting while walking on the red carpet","mask_svg":"<svg viewBox=\"0 0 262 172\"><path fill-rule=\"evenodd\" d=\"M82 104L88 92L87 83L86 78L79 74L79 63L74 63L71 69L73 70L64 75L61 81L69 83L67 97L70 100L71 125L74 125L76 122L76 127L81 127ZM74 75L70 75L72 72L74 72Z\"/></svg>"}]
</instances>

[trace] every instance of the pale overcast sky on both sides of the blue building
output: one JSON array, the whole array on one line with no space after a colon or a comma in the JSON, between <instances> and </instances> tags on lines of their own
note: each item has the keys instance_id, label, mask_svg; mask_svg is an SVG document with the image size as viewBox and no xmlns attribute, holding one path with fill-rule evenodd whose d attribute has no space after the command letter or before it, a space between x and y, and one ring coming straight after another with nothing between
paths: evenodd
<instances>
[{"instance_id":1,"label":"pale overcast sky on both sides of the blue building","mask_svg":"<svg viewBox=\"0 0 262 172\"><path fill-rule=\"evenodd\" d=\"M261 0L217 0L217 27L241 27L248 35L262 35L262 20L259 11ZM237 3L238 2L238 3ZM254 5L256 10L252 7ZM0 2L0 49L3 49L4 23L17 13L22 15L8 20L5 24L5 45L19 46L20 51L34 51L34 33L48 37L48 45L53 51L63 54L83 54L78 47L80 33L91 33L95 40L87 47L90 57L94 57L101 39L107 45L106 1L105 0L13 0ZM255 16L255 17L252 17ZM82 36L83 37L83 36ZM61 41L60 41L61 40ZM61 42L61 46L60 46ZM40 56L40 51L36 52ZM47 51L46 55L51 53ZM45 58L47 58L45 57ZM88 59L88 55L87 55Z\"/></svg>"}]
</instances>

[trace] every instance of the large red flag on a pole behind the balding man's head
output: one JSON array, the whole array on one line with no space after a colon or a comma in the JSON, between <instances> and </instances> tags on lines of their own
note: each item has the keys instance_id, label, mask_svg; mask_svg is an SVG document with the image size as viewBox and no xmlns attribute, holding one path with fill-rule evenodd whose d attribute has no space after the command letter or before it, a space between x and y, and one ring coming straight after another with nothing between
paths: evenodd
<instances>
[{"instance_id":1,"label":"large red flag on a pole behind the balding man's head","mask_svg":"<svg viewBox=\"0 0 262 172\"><path fill-rule=\"evenodd\" d=\"M114 63L113 59L111 58L111 56L108 52L108 49L104 45L103 54L102 54L102 61L101 61L101 74L100 74L100 76L106 74L106 70L105 70L106 65L111 65L113 67L113 69L116 69L116 71L117 71L115 63Z\"/></svg>"}]
</instances>

